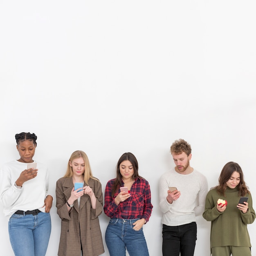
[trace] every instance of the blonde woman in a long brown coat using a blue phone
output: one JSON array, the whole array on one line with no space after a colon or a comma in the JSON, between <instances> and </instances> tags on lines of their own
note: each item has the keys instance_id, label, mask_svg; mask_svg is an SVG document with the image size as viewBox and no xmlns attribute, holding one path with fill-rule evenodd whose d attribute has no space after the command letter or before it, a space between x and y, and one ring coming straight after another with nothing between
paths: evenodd
<instances>
[{"instance_id":1,"label":"blonde woman in a long brown coat using a blue phone","mask_svg":"<svg viewBox=\"0 0 256 256\"><path fill-rule=\"evenodd\" d=\"M74 189L75 183L83 183ZM61 218L58 256L98 256L104 253L98 216L102 213L101 183L92 176L87 155L76 150L64 177L56 182L56 207Z\"/></svg>"}]
</instances>

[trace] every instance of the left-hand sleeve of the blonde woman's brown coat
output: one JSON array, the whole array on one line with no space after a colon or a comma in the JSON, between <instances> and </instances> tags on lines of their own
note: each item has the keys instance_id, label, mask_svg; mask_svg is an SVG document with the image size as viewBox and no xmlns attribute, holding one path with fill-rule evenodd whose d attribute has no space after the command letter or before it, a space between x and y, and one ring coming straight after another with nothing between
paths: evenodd
<instances>
[{"instance_id":1,"label":"left-hand sleeve of the blonde woman's brown coat","mask_svg":"<svg viewBox=\"0 0 256 256\"><path fill-rule=\"evenodd\" d=\"M63 220L71 220L70 218L70 211L67 210L66 199L63 193L63 186L61 180L57 180L56 182L56 207L57 207L57 214ZM73 207L72 207L73 208Z\"/></svg>"}]
</instances>

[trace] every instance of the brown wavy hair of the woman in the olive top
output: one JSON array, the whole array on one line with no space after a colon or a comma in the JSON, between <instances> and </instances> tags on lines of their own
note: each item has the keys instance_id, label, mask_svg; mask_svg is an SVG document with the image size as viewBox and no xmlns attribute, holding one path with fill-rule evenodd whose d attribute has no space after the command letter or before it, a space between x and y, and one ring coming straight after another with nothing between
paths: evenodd
<instances>
[{"instance_id":1,"label":"brown wavy hair of the woman in the olive top","mask_svg":"<svg viewBox=\"0 0 256 256\"><path fill-rule=\"evenodd\" d=\"M225 166L222 168L222 171L220 173L219 177L219 184L215 188L217 189L217 192L219 195L225 196L225 191L227 189L227 181L230 179L232 173L234 171L238 172L240 174L240 182L237 185L238 187L238 194L240 196L245 196L249 192L249 187L246 186L245 181L244 181L244 175L242 168L240 167L239 164L235 162L228 162L225 164Z\"/></svg>"}]
</instances>

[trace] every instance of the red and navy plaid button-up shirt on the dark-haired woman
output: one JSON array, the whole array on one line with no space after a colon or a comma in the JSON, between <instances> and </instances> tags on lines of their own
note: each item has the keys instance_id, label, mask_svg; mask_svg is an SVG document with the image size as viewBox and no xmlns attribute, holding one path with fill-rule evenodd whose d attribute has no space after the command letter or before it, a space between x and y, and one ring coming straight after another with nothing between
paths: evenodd
<instances>
[{"instance_id":1,"label":"red and navy plaid button-up shirt on the dark-haired woman","mask_svg":"<svg viewBox=\"0 0 256 256\"><path fill-rule=\"evenodd\" d=\"M115 197L120 193L120 189L111 196L111 188L115 179L109 180L105 190L104 212L110 218L120 219L141 219L148 222L153 205L151 204L151 193L148 181L137 178L130 189L130 198L119 205L115 204ZM123 186L124 184L122 184Z\"/></svg>"}]
</instances>

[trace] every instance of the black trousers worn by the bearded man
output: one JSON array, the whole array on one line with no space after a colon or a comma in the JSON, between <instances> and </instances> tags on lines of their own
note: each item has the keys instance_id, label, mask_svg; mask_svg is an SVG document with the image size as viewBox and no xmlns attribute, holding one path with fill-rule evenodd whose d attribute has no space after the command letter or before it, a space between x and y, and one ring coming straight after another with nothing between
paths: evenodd
<instances>
[{"instance_id":1,"label":"black trousers worn by the bearded man","mask_svg":"<svg viewBox=\"0 0 256 256\"><path fill-rule=\"evenodd\" d=\"M180 226L163 224L163 256L193 256L197 226L195 222Z\"/></svg>"}]
</instances>

